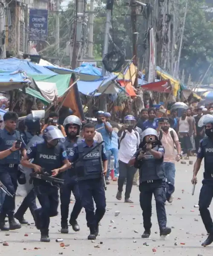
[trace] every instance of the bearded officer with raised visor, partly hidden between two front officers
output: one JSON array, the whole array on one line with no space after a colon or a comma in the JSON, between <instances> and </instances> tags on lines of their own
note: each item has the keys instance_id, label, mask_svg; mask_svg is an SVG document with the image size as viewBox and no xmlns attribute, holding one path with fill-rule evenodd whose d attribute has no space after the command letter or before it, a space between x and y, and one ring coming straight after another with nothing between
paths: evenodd
<instances>
[{"instance_id":1,"label":"bearded officer with raised visor, partly hidden between two front officers","mask_svg":"<svg viewBox=\"0 0 213 256\"><path fill-rule=\"evenodd\" d=\"M81 130L81 119L78 116L67 116L64 120L63 126L66 132L66 141L64 143L66 153L69 153L73 150L76 143L81 142L79 133ZM81 198L78 190L78 181L75 170L69 169L63 173L63 179L65 183L60 188L60 214L61 214L61 233L68 233L68 224L67 219L69 215L69 203L71 192L75 196L75 205L72 209L70 215L69 223L72 226L74 231L79 231L80 227L77 222L79 213L81 212Z\"/></svg>"}]
</instances>

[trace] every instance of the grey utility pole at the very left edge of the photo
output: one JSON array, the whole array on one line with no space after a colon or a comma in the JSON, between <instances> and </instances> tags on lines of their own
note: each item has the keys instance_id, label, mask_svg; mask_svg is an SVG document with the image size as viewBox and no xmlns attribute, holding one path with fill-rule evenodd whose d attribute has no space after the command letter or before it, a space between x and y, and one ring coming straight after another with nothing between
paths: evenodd
<instances>
[{"instance_id":1,"label":"grey utility pole at the very left edge of the photo","mask_svg":"<svg viewBox=\"0 0 213 256\"><path fill-rule=\"evenodd\" d=\"M1 5L0 5L0 13L2 15L0 15L0 58L6 58L6 45L5 45L5 4L6 1L5 0L1 0L0 1Z\"/></svg>"}]
</instances>

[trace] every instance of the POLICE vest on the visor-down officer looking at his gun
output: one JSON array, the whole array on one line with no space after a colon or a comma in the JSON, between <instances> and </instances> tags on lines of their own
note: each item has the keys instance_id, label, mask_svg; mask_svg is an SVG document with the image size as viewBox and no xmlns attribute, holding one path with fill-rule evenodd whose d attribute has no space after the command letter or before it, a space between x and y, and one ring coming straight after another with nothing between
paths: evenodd
<instances>
[{"instance_id":1,"label":"POLICE vest on the visor-down officer looking at his gun","mask_svg":"<svg viewBox=\"0 0 213 256\"><path fill-rule=\"evenodd\" d=\"M58 169L63 165L60 153L60 143L52 148L48 148L46 142L37 144L36 157L33 163L41 166L45 172L52 174L52 170Z\"/></svg>"}]
</instances>

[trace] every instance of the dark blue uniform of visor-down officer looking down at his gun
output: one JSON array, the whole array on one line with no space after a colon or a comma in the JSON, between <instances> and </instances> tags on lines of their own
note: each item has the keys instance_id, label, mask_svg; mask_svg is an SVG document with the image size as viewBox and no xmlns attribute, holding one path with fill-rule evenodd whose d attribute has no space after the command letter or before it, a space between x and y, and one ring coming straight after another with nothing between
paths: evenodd
<instances>
[{"instance_id":1,"label":"dark blue uniform of visor-down officer looking down at his gun","mask_svg":"<svg viewBox=\"0 0 213 256\"><path fill-rule=\"evenodd\" d=\"M29 159L33 158L32 163L41 166L49 174L63 166L63 161L67 159L62 143L49 148L46 141L30 147L27 156ZM41 235L48 235L50 217L58 215L58 186L52 186L51 183L39 179L34 179L33 185L41 205L41 208L35 210L37 228L40 229Z\"/></svg>"}]
</instances>

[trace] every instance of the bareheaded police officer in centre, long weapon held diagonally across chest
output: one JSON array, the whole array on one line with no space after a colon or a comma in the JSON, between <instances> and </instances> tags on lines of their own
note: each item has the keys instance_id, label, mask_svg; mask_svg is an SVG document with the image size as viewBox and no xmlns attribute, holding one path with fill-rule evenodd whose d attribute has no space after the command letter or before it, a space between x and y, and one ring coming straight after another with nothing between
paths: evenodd
<instances>
[{"instance_id":1,"label":"bareheaded police officer in centre, long weapon held diagonally across chest","mask_svg":"<svg viewBox=\"0 0 213 256\"><path fill-rule=\"evenodd\" d=\"M82 206L86 211L87 227L89 227L89 240L96 239L98 236L98 224L104 217L106 211L106 198L104 185L102 180L102 164L104 174L107 173L107 156L103 145L100 148L95 148L94 151L87 154L83 159L81 157L89 152L92 147L97 145L93 140L95 136L95 126L87 123L83 127L85 141L75 145L74 150L69 154L70 162L79 159L75 164L75 170L78 176L78 187L81 195ZM94 203L96 210L94 212Z\"/></svg>"}]
</instances>

